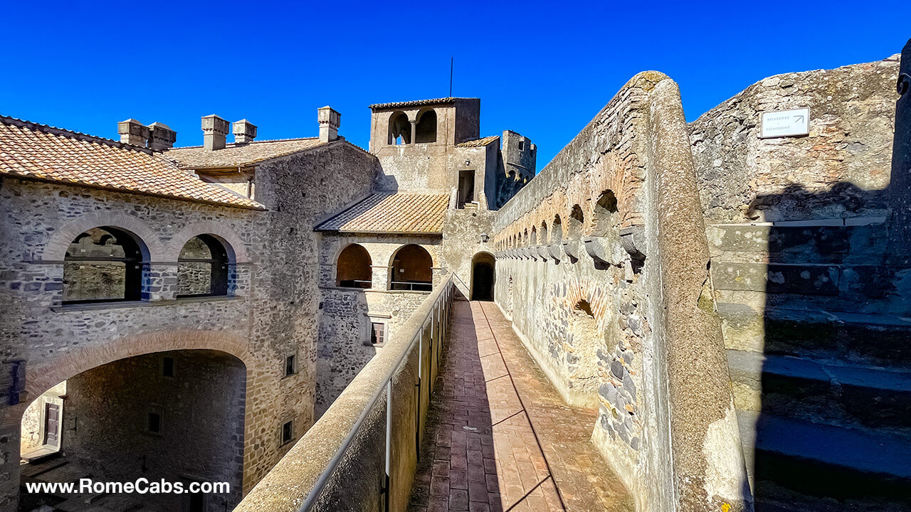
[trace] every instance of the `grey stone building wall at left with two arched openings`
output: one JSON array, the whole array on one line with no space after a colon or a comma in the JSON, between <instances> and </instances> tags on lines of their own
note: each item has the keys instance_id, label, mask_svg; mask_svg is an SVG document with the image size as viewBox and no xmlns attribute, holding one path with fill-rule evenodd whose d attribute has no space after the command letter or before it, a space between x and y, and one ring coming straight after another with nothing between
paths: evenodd
<instances>
[{"instance_id":1,"label":"grey stone building wall at left with two arched openings","mask_svg":"<svg viewBox=\"0 0 911 512\"><path fill-rule=\"evenodd\" d=\"M100 364L141 353L211 349L247 367L243 489L281 458L281 425L299 437L313 420L320 291L317 220L366 194L376 160L343 141L273 159L257 169L258 200L241 210L136 194L4 179L0 194L0 333L5 374L26 365L23 404L5 407L2 495L18 487L19 420L28 401ZM63 258L97 226L128 230L148 250L141 302L61 306ZM195 235L229 241L237 255L232 297L175 300L178 254ZM298 372L282 378L284 359ZM14 450L15 448L15 450Z\"/></svg>"}]
</instances>

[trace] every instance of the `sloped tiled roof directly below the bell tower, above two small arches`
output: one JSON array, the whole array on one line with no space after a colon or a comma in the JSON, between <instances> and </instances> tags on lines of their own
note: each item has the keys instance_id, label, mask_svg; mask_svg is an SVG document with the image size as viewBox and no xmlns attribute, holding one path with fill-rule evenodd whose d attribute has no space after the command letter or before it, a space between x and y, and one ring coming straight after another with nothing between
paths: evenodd
<instances>
[{"instance_id":1,"label":"sloped tiled roof directly below the bell tower, above two small arches","mask_svg":"<svg viewBox=\"0 0 911 512\"><path fill-rule=\"evenodd\" d=\"M446 194L373 194L316 227L354 233L441 233Z\"/></svg>"}]
</instances>

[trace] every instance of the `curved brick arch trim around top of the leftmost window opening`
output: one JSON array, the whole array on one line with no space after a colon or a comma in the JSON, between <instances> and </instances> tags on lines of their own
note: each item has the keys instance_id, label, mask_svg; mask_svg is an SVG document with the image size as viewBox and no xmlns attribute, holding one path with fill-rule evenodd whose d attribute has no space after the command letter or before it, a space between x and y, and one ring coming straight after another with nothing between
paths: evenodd
<instances>
[{"instance_id":1,"label":"curved brick arch trim around top of the leftmost window opening","mask_svg":"<svg viewBox=\"0 0 911 512\"><path fill-rule=\"evenodd\" d=\"M80 215L76 219L68 221L51 235L50 240L45 244L42 251L41 259L45 261L63 261L67 257L67 248L69 244L76 240L80 233L92 228L101 226L111 226L128 230L136 235L144 245L143 251L148 251L145 256L148 261L160 261L164 251L159 236L155 231L139 220L138 217L126 213L115 213L112 211L96 211Z\"/></svg>"}]
</instances>

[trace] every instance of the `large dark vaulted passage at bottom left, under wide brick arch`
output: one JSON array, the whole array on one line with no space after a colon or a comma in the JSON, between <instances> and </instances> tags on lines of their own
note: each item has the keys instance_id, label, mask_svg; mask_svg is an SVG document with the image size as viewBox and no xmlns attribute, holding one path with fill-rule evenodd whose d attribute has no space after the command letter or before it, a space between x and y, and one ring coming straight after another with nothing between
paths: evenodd
<instances>
[{"instance_id":1,"label":"large dark vaulted passage at bottom left, under wide brick arch","mask_svg":"<svg viewBox=\"0 0 911 512\"><path fill-rule=\"evenodd\" d=\"M19 509L215 512L241 498L246 369L219 351L148 353L97 366L38 397L21 426L21 483L228 482L230 493L20 493ZM80 506L79 504L83 504Z\"/></svg>"}]
</instances>

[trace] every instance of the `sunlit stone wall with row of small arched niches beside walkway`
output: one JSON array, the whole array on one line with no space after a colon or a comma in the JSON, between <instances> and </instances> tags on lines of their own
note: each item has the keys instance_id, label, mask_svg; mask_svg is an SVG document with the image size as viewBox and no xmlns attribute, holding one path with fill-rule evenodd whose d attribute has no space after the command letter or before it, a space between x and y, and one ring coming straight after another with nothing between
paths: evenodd
<instances>
[{"instance_id":1,"label":"sunlit stone wall with row of small arched niches beside walkway","mask_svg":"<svg viewBox=\"0 0 911 512\"><path fill-rule=\"evenodd\" d=\"M700 308L685 130L669 78L622 87L497 212L496 302L568 402L599 406L593 440L638 509L742 509L742 460L705 455L739 439L718 321Z\"/></svg>"}]
</instances>

